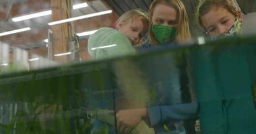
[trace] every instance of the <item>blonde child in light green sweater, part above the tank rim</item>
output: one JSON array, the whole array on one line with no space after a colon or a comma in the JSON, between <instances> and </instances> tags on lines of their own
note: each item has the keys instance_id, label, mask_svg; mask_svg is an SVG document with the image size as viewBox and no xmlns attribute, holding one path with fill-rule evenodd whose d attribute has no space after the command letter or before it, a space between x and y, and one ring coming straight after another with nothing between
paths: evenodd
<instances>
[{"instance_id":1,"label":"blonde child in light green sweater, part above the tank rim","mask_svg":"<svg viewBox=\"0 0 256 134\"><path fill-rule=\"evenodd\" d=\"M139 44L148 31L149 19L138 9L127 11L117 20L116 29L103 27L88 40L88 52L94 59L134 54L133 46Z\"/></svg>"}]
</instances>

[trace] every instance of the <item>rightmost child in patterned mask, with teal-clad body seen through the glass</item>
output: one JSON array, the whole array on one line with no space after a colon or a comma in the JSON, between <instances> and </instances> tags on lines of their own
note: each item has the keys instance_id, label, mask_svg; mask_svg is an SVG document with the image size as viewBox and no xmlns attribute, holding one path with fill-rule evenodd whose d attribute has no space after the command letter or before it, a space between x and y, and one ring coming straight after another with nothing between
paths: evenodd
<instances>
[{"instance_id":1,"label":"rightmost child in patterned mask, with teal-clad body seen through the glass","mask_svg":"<svg viewBox=\"0 0 256 134\"><path fill-rule=\"evenodd\" d=\"M200 1L196 19L210 37L220 38L242 34L243 16L233 0ZM239 50L241 54L237 54L235 50ZM204 82L199 80L195 82L197 90L207 89L204 95L214 96L214 98L200 100L201 133L253 133L255 131L255 126L251 125L255 124L256 118L253 98L251 95L245 95L250 94L251 83L247 71L249 64L243 51L243 48L239 47L232 48L232 51L225 48L216 49L211 53L203 52L203 54L209 54L204 55L203 60L199 62L196 62L197 58L194 60L195 74L203 72L203 75L207 76L203 78ZM239 69L236 70L234 66ZM216 92L221 93L216 94Z\"/></svg>"}]
</instances>

